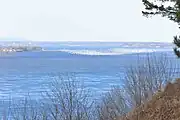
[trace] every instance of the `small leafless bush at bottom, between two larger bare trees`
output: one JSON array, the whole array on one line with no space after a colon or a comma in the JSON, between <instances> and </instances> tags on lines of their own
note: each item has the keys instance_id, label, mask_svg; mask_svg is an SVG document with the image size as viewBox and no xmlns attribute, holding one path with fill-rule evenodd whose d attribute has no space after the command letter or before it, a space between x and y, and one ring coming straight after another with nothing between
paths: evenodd
<instances>
[{"instance_id":1,"label":"small leafless bush at bottom, between two larger bare trees","mask_svg":"<svg viewBox=\"0 0 180 120\"><path fill-rule=\"evenodd\" d=\"M96 107L97 120L116 120L118 116L129 111L124 91L117 86L106 93L99 102Z\"/></svg>"}]
</instances>

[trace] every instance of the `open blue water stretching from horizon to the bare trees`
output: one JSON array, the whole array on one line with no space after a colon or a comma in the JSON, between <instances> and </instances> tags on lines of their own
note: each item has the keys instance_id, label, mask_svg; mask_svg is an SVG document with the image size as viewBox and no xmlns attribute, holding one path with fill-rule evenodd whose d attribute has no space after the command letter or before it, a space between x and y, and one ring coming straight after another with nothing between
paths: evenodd
<instances>
[{"instance_id":1,"label":"open blue water stretching from horizon to the bare trees","mask_svg":"<svg viewBox=\"0 0 180 120\"><path fill-rule=\"evenodd\" d=\"M153 49L157 54L166 52L169 58L175 58L169 43L33 44L42 46L45 51L11 53L0 57L0 99L21 98L28 93L37 99L54 77L63 73L74 74L85 87L101 94L111 86L121 84L127 67L135 64L138 54L145 55L144 50ZM143 52L131 52L141 49Z\"/></svg>"}]
</instances>

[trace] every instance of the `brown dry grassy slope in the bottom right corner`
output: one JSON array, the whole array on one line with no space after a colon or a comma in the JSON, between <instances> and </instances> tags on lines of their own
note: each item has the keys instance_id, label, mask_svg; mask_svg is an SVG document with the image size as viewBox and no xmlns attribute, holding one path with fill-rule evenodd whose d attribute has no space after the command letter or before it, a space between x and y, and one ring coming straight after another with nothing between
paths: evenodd
<instances>
[{"instance_id":1,"label":"brown dry grassy slope in the bottom right corner","mask_svg":"<svg viewBox=\"0 0 180 120\"><path fill-rule=\"evenodd\" d=\"M119 120L180 120L180 79Z\"/></svg>"}]
</instances>

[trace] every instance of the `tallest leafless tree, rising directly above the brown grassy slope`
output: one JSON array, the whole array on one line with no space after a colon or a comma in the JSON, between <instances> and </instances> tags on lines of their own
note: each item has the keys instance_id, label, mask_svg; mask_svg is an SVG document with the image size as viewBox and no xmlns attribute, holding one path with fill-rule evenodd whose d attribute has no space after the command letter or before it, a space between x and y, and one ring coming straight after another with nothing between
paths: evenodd
<instances>
[{"instance_id":1,"label":"tallest leafless tree, rising directly above the brown grassy slope","mask_svg":"<svg viewBox=\"0 0 180 120\"><path fill-rule=\"evenodd\" d=\"M123 89L129 97L132 107L139 106L152 95L162 90L168 81L172 81L179 70L174 61L168 59L166 54L147 54L138 56L135 66L127 69L123 80ZM133 64L134 64L133 63Z\"/></svg>"}]
</instances>

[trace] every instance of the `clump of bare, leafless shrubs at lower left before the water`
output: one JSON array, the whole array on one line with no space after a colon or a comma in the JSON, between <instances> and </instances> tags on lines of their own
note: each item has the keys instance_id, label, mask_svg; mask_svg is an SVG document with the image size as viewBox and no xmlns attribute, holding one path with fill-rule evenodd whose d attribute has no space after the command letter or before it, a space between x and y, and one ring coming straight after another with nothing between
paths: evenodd
<instances>
[{"instance_id":1,"label":"clump of bare, leafless shrubs at lower left before the water","mask_svg":"<svg viewBox=\"0 0 180 120\"><path fill-rule=\"evenodd\" d=\"M13 101L9 120L93 120L93 100L88 89L73 75L58 76L43 99ZM4 114L3 120L8 120Z\"/></svg>"}]
</instances>

